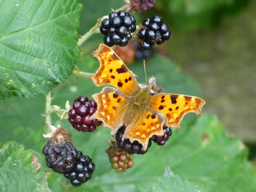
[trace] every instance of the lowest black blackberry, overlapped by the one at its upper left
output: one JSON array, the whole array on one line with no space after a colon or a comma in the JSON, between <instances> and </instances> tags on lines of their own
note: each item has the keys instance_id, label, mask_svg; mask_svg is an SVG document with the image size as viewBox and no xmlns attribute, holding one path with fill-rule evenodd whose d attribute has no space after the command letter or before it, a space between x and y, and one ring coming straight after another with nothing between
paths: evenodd
<instances>
[{"instance_id":1,"label":"lowest black blackberry, overlapped by the one at its upper left","mask_svg":"<svg viewBox=\"0 0 256 192\"><path fill-rule=\"evenodd\" d=\"M64 176L70 179L71 185L80 186L91 179L94 170L95 164L92 162L92 159L79 151L78 158L74 160L74 167L65 172Z\"/></svg>"}]
</instances>

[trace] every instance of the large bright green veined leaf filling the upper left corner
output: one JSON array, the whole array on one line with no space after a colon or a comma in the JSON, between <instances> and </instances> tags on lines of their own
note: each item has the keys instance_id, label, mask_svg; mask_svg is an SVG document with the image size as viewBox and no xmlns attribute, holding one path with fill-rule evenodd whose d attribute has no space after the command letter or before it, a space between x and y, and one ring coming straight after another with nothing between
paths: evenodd
<instances>
[{"instance_id":1,"label":"large bright green veined leaf filling the upper left corner","mask_svg":"<svg viewBox=\"0 0 256 192\"><path fill-rule=\"evenodd\" d=\"M0 3L0 98L34 98L70 76L81 5L76 0Z\"/></svg>"}]
</instances>

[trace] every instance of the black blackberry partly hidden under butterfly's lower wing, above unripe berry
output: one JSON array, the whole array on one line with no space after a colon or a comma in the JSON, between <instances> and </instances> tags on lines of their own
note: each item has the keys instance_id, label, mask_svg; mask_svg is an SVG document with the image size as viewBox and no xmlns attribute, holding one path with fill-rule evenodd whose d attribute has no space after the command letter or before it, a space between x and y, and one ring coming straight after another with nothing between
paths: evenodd
<instances>
[{"instance_id":1,"label":"black blackberry partly hidden under butterfly's lower wing, above unripe berry","mask_svg":"<svg viewBox=\"0 0 256 192\"><path fill-rule=\"evenodd\" d=\"M117 134L116 134L116 141L117 145L123 149L126 150L129 154L145 154L148 151L148 148L151 146L151 139L148 141L148 148L147 150L143 150L142 145L138 141L133 141L133 143L130 143L129 139L124 139L124 141L121 141L124 131L125 131L125 126L121 127L118 129Z\"/></svg>"}]
</instances>

